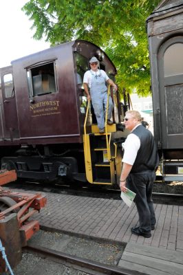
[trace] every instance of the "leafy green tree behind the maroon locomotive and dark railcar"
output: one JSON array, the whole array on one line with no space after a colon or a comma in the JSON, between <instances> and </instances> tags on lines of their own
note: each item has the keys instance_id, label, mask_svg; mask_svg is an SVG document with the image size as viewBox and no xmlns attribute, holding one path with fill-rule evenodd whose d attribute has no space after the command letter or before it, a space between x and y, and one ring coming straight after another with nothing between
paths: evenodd
<instances>
[{"instance_id":1,"label":"leafy green tree behind the maroon locomotive and dark railcar","mask_svg":"<svg viewBox=\"0 0 183 275\"><path fill-rule=\"evenodd\" d=\"M34 39L57 45L85 39L114 61L120 87L150 93L146 19L160 0L30 0L23 6Z\"/></svg>"}]
</instances>

